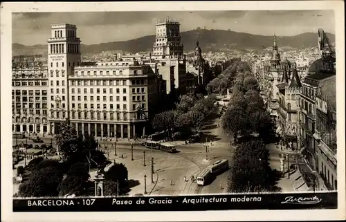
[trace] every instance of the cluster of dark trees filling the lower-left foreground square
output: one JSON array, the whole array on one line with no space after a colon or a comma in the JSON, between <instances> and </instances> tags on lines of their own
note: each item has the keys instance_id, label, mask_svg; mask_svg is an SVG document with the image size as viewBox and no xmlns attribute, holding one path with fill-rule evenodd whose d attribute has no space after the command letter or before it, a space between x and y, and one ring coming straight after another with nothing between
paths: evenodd
<instances>
[{"instance_id":1,"label":"cluster of dark trees filling the lower-left foreground square","mask_svg":"<svg viewBox=\"0 0 346 222\"><path fill-rule=\"evenodd\" d=\"M31 160L24 169L18 168L18 174L23 175L19 196L94 195L89 171L109 163L104 152L98 150L98 142L92 136L77 135L69 120L66 120L61 125L56 143L61 160L38 157ZM128 172L125 165L113 165L104 176L104 194L121 195L128 192Z\"/></svg>"}]
</instances>

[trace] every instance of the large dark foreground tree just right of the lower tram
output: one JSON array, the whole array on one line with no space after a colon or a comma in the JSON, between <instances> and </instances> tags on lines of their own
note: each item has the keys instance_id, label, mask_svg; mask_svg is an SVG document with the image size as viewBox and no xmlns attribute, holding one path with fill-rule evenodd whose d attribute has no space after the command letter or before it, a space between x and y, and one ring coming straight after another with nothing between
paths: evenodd
<instances>
[{"instance_id":1,"label":"large dark foreground tree just right of the lower tram","mask_svg":"<svg viewBox=\"0 0 346 222\"><path fill-rule=\"evenodd\" d=\"M269 166L268 157L268 150L261 141L240 144L230 167L228 192L279 191L279 175Z\"/></svg>"}]
</instances>

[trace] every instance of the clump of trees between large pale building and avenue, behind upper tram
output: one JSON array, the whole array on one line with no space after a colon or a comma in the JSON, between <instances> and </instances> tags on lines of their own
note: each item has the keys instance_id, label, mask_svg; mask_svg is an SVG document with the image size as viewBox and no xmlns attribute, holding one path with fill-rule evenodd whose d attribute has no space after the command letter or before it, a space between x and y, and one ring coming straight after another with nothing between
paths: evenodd
<instances>
[{"instance_id":1,"label":"clump of trees between large pale building and avenue, behind upper tram","mask_svg":"<svg viewBox=\"0 0 346 222\"><path fill-rule=\"evenodd\" d=\"M210 115L215 100L215 95L209 95L208 98L201 94L181 95L179 102L176 102L176 109L156 114L152 126L157 131L165 131L166 138L172 138L174 132L190 136Z\"/></svg>"}]
</instances>

